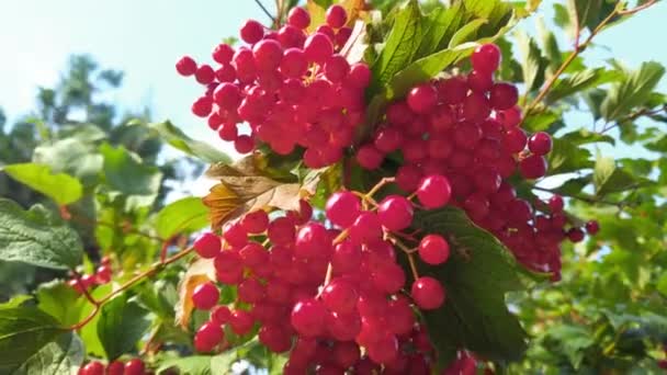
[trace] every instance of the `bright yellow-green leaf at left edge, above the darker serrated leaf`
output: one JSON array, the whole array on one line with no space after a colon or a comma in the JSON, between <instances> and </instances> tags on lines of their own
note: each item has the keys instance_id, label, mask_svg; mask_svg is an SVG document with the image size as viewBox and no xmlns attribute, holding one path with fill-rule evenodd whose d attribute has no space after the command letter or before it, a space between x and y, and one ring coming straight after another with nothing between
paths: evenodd
<instances>
[{"instance_id":1,"label":"bright yellow-green leaf at left edge, above the darker serrated leaf","mask_svg":"<svg viewBox=\"0 0 667 375\"><path fill-rule=\"evenodd\" d=\"M58 205L77 202L83 194L79 180L65 173L53 173L48 166L24 162L2 168L12 179L56 201Z\"/></svg>"}]
</instances>

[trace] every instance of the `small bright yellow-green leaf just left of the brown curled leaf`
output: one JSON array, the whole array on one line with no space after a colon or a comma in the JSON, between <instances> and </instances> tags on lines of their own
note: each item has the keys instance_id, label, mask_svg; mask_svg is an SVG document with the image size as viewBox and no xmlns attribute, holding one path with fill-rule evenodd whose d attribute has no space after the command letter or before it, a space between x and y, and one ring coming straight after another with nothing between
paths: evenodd
<instances>
[{"instance_id":1,"label":"small bright yellow-green leaf just left of the brown curled leaf","mask_svg":"<svg viewBox=\"0 0 667 375\"><path fill-rule=\"evenodd\" d=\"M208 207L199 197L185 197L160 209L155 218L155 229L161 238L179 232L192 232L208 224Z\"/></svg>"}]
</instances>

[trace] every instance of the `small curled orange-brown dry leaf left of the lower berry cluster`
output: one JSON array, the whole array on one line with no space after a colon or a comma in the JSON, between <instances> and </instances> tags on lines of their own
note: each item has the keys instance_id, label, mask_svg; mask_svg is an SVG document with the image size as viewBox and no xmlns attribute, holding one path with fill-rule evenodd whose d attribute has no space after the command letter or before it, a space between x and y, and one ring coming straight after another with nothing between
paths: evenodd
<instances>
[{"instance_id":1,"label":"small curled orange-brown dry leaf left of the lower berry cluster","mask_svg":"<svg viewBox=\"0 0 667 375\"><path fill-rule=\"evenodd\" d=\"M194 309L192 293L194 288L203 283L215 280L215 268L211 259L197 259L190 264L188 272L179 283L179 300L176 304L176 325L188 329L190 317Z\"/></svg>"}]
</instances>

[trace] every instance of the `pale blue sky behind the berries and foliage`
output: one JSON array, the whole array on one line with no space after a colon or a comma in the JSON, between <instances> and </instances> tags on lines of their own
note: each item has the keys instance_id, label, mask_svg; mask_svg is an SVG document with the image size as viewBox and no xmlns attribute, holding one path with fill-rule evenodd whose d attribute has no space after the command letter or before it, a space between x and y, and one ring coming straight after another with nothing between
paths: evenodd
<instances>
[{"instance_id":1,"label":"pale blue sky behind the berries and foliage","mask_svg":"<svg viewBox=\"0 0 667 375\"><path fill-rule=\"evenodd\" d=\"M546 16L553 3L542 2ZM249 18L267 21L251 0L12 1L0 13L0 106L10 121L25 114L34 106L36 87L57 82L69 55L88 53L103 67L125 71L125 83L113 98L123 107L148 104L155 120L170 118L191 136L222 146L190 113L200 87L179 77L173 64L184 54L208 60L212 47L236 35ZM615 56L631 67L652 59L667 65L665 20L667 2L660 2L604 32L599 47L586 56ZM604 46L613 46L613 53Z\"/></svg>"}]
</instances>

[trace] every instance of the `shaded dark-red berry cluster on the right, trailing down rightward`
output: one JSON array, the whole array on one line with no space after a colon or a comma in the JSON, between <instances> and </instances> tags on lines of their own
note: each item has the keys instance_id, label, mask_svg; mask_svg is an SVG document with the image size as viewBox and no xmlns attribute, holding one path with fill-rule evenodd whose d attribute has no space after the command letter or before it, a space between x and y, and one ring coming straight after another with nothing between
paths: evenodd
<instances>
[{"instance_id":1,"label":"shaded dark-red berry cluster on the right, trailing down rightward","mask_svg":"<svg viewBox=\"0 0 667 375\"><path fill-rule=\"evenodd\" d=\"M505 242L521 263L559 279L559 243L566 237L580 241L584 231L572 225L564 229L568 220L562 197L540 203L549 215L538 215L533 204L517 197L510 178L517 171L527 180L544 177L552 139L521 129L517 87L494 81L500 59L500 49L485 44L472 54L470 73L414 87L405 100L388 106L357 160L374 170L387 155L399 155L396 183L406 192L423 175L446 177L454 206ZM597 223L587 229L597 232Z\"/></svg>"}]
</instances>

